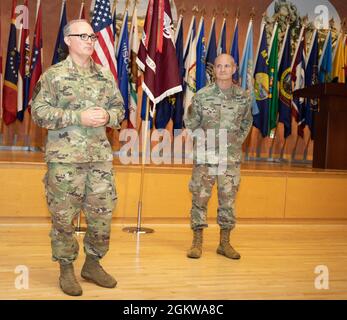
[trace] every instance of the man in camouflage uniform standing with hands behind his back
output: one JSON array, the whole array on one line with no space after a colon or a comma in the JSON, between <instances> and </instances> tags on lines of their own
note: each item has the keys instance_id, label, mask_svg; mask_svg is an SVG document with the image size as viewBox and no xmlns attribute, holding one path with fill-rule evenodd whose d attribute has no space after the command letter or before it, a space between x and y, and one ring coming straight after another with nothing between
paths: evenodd
<instances>
[{"instance_id":1,"label":"man in camouflage uniform standing with hands behind his back","mask_svg":"<svg viewBox=\"0 0 347 320\"><path fill-rule=\"evenodd\" d=\"M194 155L192 179L189 184L192 193L191 228L193 244L188 251L189 258L200 258L202 253L203 228L207 227L207 203L212 187L217 180L218 215L220 226L220 244L217 253L230 259L239 259L240 254L230 245L230 231L235 227L234 202L240 183L240 162L242 143L252 125L250 94L234 85L232 75L236 71L230 55L219 55L214 64L216 82L201 89L193 98L185 115L188 129L213 130L216 150L210 150L205 144L205 154ZM225 159L219 150L219 140L225 132ZM196 146L195 141L195 146ZM207 146L207 147L206 147ZM217 153L213 159L211 152ZM224 162L224 163L223 163ZM219 170L224 164L225 170Z\"/></svg>"}]
</instances>

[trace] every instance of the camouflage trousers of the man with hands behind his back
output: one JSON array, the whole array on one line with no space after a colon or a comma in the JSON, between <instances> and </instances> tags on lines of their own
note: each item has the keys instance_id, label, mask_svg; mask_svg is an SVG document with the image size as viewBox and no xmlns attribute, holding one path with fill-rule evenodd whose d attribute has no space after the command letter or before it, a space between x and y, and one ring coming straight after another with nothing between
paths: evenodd
<instances>
[{"instance_id":1,"label":"camouflage trousers of the man with hands behind his back","mask_svg":"<svg viewBox=\"0 0 347 320\"><path fill-rule=\"evenodd\" d=\"M218 173L216 165L193 166L189 190L192 193L190 224L193 230L206 228L207 204L217 180L218 211L217 223L222 229L233 229L236 223L235 197L240 184L240 163L228 164L226 170Z\"/></svg>"}]
</instances>

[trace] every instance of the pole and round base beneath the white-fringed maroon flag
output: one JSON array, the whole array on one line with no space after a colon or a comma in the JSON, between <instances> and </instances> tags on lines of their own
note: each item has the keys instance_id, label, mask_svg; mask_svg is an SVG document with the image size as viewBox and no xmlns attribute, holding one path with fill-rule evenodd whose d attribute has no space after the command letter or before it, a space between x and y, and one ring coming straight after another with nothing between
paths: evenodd
<instances>
[{"instance_id":1,"label":"pole and round base beneath the white-fringed maroon flag","mask_svg":"<svg viewBox=\"0 0 347 320\"><path fill-rule=\"evenodd\" d=\"M141 179L140 179L140 195L137 204L137 226L136 227L125 227L124 232L128 233L153 233L154 230L151 228L141 227L141 215L142 215L142 200L143 200L143 189L144 189L144 178L145 178L145 164L147 155L147 134L148 134L148 114L149 114L149 98L147 97L146 102L146 119L145 119L145 130L144 130L144 141L142 144L142 163L141 163Z\"/></svg>"}]
</instances>

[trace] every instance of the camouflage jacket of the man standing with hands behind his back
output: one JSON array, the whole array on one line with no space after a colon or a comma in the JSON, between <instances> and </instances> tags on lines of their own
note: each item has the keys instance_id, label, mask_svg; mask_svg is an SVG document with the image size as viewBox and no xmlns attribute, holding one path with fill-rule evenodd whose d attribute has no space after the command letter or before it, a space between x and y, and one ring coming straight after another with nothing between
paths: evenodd
<instances>
[{"instance_id":1,"label":"camouflage jacket of the man standing with hands behind his back","mask_svg":"<svg viewBox=\"0 0 347 320\"><path fill-rule=\"evenodd\" d=\"M197 152L194 160L216 164L208 160L208 153L218 155L220 129L224 129L227 134L227 163L240 162L242 143L249 133L252 120L251 96L241 87L232 86L230 89L221 90L217 84L212 83L201 89L188 108L185 125L193 132L198 128L205 134L208 130L214 130L216 142L215 149L206 148L206 157Z\"/></svg>"}]
</instances>

